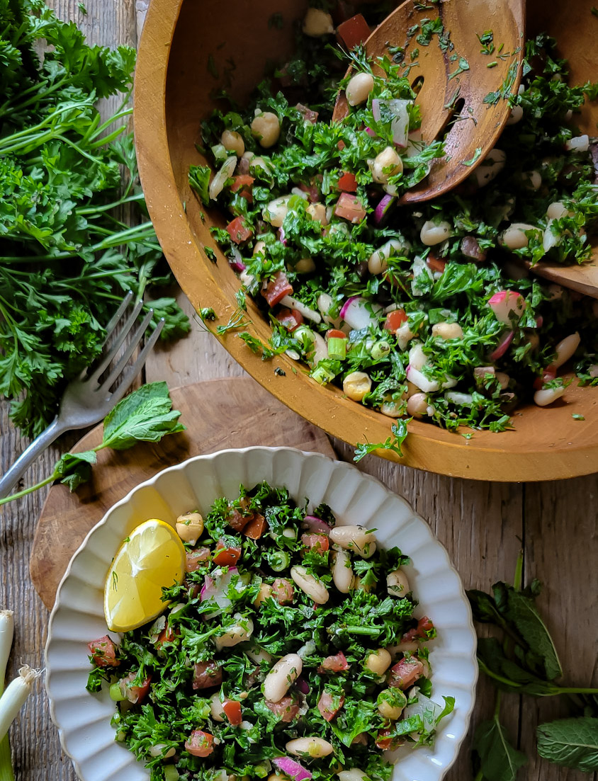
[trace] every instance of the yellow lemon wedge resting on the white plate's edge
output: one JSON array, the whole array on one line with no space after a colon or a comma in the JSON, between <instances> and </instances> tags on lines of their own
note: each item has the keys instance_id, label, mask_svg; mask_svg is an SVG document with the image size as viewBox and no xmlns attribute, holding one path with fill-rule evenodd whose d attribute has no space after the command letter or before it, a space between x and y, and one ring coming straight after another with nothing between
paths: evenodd
<instances>
[{"instance_id":1,"label":"yellow lemon wedge resting on the white plate's edge","mask_svg":"<svg viewBox=\"0 0 598 781\"><path fill-rule=\"evenodd\" d=\"M176 530L156 518L136 526L106 576L104 615L113 632L128 632L166 607L162 588L182 583L185 551Z\"/></svg>"}]
</instances>

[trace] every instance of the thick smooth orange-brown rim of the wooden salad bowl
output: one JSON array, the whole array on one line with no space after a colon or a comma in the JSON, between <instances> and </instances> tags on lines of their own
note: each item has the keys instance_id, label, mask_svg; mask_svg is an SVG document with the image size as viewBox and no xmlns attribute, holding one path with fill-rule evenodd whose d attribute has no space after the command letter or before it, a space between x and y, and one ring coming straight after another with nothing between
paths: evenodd
<instances>
[{"instance_id":1,"label":"thick smooth orange-brown rim of the wooden salad bowl","mask_svg":"<svg viewBox=\"0 0 598 781\"><path fill-rule=\"evenodd\" d=\"M174 276L195 308L199 306L201 290L202 305L209 303L217 312L224 310L230 314L236 304L225 296L209 268L209 262L199 251L202 245L185 214L170 160L166 118L167 70L170 45L183 2L152 0L149 6L135 73L135 147L149 215ZM197 269L201 267L203 274L200 276ZM320 387L299 370L295 374L298 365L285 355L278 356L278 362L287 370L286 376L275 376L274 364L263 362L241 340L229 335L222 343L267 391L333 437L353 445L357 441L353 436L360 437L359 441L369 442L381 442L389 437L391 419L349 401L337 388ZM581 406L579 391L582 389L572 391L577 408ZM598 411L598 388L584 388L582 392L589 394L583 407L596 407ZM319 398L314 398L316 394ZM575 408L575 404L569 404L568 408ZM521 414L525 408L517 412ZM539 408L533 405L527 408L533 408L539 416ZM549 418L557 409L546 408L543 411L543 414L547 413L546 422L539 421L539 426L544 432L557 430L557 426L550 425L554 420ZM566 413L561 409L560 414ZM593 420L570 420L571 433L567 431L566 437L561 435L559 444L548 440L539 443L530 441L517 430L503 433L474 431L471 439L467 440L459 433L450 433L430 423L414 420L409 426L409 437L403 444L403 458L389 450L376 452L402 465L472 480L562 480L594 473L598 470L596 415ZM565 441L583 440L584 437L586 441L581 444Z\"/></svg>"}]
</instances>

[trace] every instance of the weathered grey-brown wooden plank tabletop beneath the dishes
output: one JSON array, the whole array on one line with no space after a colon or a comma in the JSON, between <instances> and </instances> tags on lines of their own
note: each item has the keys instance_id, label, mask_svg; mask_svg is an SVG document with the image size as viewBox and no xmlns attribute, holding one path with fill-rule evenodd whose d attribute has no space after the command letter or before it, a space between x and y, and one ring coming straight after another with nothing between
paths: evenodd
<instances>
[{"instance_id":1,"label":"weathered grey-brown wooden plank tabletop beneath the dishes","mask_svg":"<svg viewBox=\"0 0 598 781\"><path fill-rule=\"evenodd\" d=\"M209 5L209 0L195 2ZM137 0L136 4L134 0L87 0L86 16L77 0L49 0L49 5L59 16L76 20L91 43L134 45L147 0ZM170 387L240 375L242 369L199 326L194 326L187 339L157 350L145 370L145 380L167 380ZM47 476L59 452L76 439L73 435L60 440L58 447L51 448L30 469L26 483ZM26 444L9 424L8 405L0 405L2 471ZM230 444L235 446L235 442ZM332 444L339 458L353 458L352 448L338 441ZM375 456L364 458L360 469L406 497L430 523L446 545L466 588L488 590L496 580L511 580L522 547L525 581L537 577L545 583L539 608L556 640L568 684L596 686L598 475L557 483L481 483L417 472ZM28 558L44 497L45 490L41 490L5 506L3 513L0 511L0 607L16 613L11 677L23 663L34 667L43 664L48 612L31 586ZM491 714L493 701L492 687L482 680L478 684L474 722ZM535 725L566 712L564 702L550 698L532 701L514 695L503 697L503 719L510 727L511 737L530 757L521 779L596 781L596 774L588 776L560 769L539 761L535 755ZM10 739L19 781L75 781L70 760L61 751L56 728L50 721L48 700L41 685L13 725ZM470 739L449 772L449 781L472 779Z\"/></svg>"}]
</instances>

